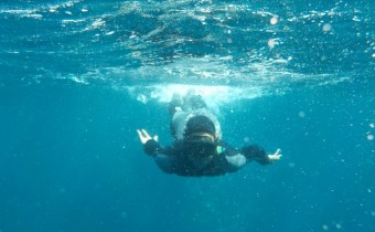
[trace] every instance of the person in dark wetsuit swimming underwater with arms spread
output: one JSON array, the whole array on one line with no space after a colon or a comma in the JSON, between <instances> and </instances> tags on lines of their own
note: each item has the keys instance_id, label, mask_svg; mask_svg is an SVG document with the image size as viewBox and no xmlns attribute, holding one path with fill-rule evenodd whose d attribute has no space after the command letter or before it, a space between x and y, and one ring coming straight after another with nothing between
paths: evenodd
<instances>
[{"instance_id":1,"label":"person in dark wetsuit swimming underwater with arms spread","mask_svg":"<svg viewBox=\"0 0 375 232\"><path fill-rule=\"evenodd\" d=\"M240 149L222 140L222 130L200 95L174 94L169 104L170 125L174 141L162 147L158 136L151 137L144 129L137 129L144 152L156 160L161 170L185 177L221 176L235 172L250 161L269 165L279 160L280 149L267 155L258 145Z\"/></svg>"}]
</instances>

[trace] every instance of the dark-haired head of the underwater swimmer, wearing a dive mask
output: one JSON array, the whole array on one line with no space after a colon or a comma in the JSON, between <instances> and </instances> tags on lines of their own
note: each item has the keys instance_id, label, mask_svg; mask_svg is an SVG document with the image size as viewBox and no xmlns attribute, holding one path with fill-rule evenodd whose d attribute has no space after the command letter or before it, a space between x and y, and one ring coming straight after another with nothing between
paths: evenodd
<instances>
[{"instance_id":1,"label":"dark-haired head of the underwater swimmer, wearing a dive mask","mask_svg":"<svg viewBox=\"0 0 375 232\"><path fill-rule=\"evenodd\" d=\"M186 124L184 144L190 159L211 159L216 155L215 126L206 116L194 116Z\"/></svg>"}]
</instances>

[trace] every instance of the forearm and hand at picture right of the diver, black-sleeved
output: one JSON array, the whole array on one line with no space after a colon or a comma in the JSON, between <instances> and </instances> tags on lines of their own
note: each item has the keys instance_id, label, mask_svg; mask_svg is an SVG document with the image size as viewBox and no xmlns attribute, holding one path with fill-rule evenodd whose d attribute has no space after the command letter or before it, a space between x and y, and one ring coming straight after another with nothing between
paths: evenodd
<instances>
[{"instance_id":1,"label":"forearm and hand at picture right of the diver, black-sleeved","mask_svg":"<svg viewBox=\"0 0 375 232\"><path fill-rule=\"evenodd\" d=\"M248 162L257 161L260 165L269 165L281 158L280 149L277 149L275 154L267 155L265 149L258 145L251 145L242 148L242 152L245 155Z\"/></svg>"}]
</instances>

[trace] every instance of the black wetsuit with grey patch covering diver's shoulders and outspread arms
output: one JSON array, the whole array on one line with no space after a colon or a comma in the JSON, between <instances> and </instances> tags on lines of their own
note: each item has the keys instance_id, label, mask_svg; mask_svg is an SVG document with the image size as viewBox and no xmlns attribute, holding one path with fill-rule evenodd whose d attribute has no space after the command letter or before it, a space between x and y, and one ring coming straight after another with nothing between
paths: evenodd
<instances>
[{"instance_id":1,"label":"black wetsuit with grey patch covering diver's shoulders and outspread arms","mask_svg":"<svg viewBox=\"0 0 375 232\"><path fill-rule=\"evenodd\" d=\"M232 148L224 141L216 141L219 152L213 155L206 165L200 165L189 158L194 147L185 146L183 140L176 140L172 146L161 147L158 141L150 139L144 144L146 154L152 156L164 172L185 177L221 176L235 172L250 161L261 165L270 164L266 151L257 146L247 146L242 149Z\"/></svg>"}]
</instances>

